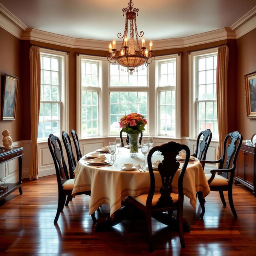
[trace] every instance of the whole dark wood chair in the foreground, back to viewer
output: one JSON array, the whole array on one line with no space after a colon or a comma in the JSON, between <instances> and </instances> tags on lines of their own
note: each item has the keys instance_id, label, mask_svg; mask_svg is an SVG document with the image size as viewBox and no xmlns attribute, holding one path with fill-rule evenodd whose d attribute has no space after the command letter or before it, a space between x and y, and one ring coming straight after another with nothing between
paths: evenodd
<instances>
[{"instance_id":1,"label":"whole dark wood chair in the foreground, back to viewer","mask_svg":"<svg viewBox=\"0 0 256 256\"><path fill-rule=\"evenodd\" d=\"M180 150L186 151L186 158L178 178L178 194L175 194L172 192L172 180L180 166L180 163L176 160L176 156L179 154ZM152 155L156 151L160 151L164 156L164 160L162 160L162 163L158 165L158 172L162 178L162 186L160 191L155 191L155 177L152 168ZM175 210L177 210L177 226L180 236L180 244L182 248L185 247L183 234L183 178L189 158L190 150L186 145L181 145L176 142L168 142L166 144L162 144L161 146L153 147L148 153L148 169L150 176L149 192L148 194L142 194L140 196L128 197L129 206L133 204L146 214L146 222L148 226L148 247L150 252L153 252L151 224L152 215L156 213L168 212L167 216L172 218L172 212Z\"/></svg>"}]
</instances>

